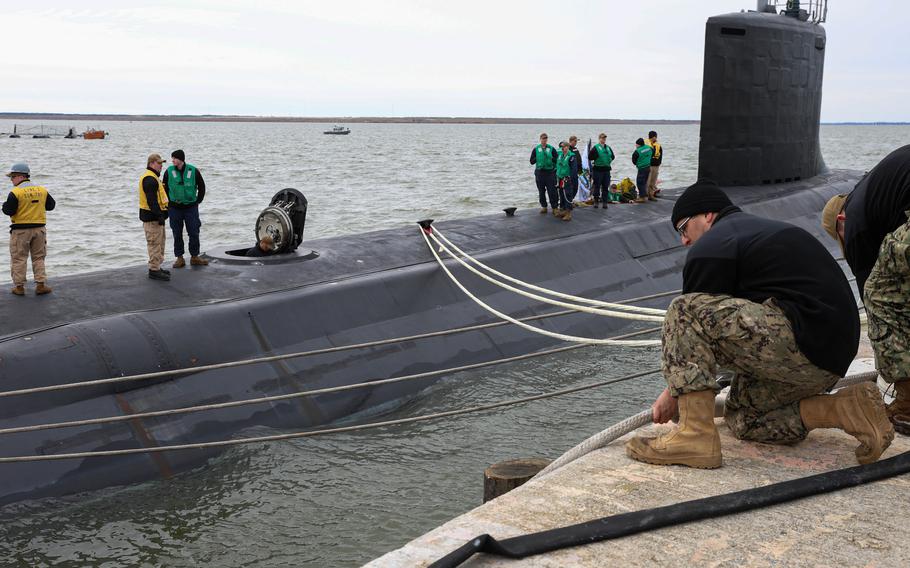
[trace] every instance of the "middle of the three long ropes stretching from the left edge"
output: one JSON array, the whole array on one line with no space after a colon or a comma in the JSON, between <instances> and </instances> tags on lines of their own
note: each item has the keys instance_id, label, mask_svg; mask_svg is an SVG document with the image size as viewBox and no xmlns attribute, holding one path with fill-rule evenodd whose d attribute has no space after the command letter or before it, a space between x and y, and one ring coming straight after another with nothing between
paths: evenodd
<instances>
[{"instance_id":1,"label":"middle of the three long ropes stretching from the left edge","mask_svg":"<svg viewBox=\"0 0 910 568\"><path fill-rule=\"evenodd\" d=\"M655 331L660 331L659 327L646 329L642 331L636 331L632 333L627 333L624 335L617 336L618 338L623 337L635 337L638 335L644 335L646 333L653 333ZM277 402L282 400L290 400L294 398L302 398L306 396L315 396L318 394L328 394L342 391L349 391L355 389L362 389L367 387L375 387L379 385L387 385L391 383L400 383L404 381L413 381L417 379L426 379L429 377L436 377L439 375L445 375L449 373L458 373L461 371L469 371L473 369L481 369L484 367L491 367L493 365L500 365L503 363L513 363L515 361L522 361L524 359L531 359L533 357L542 357L544 355L552 355L554 353L563 353L565 351L570 351L572 349L578 349L580 347L588 347L587 345L569 345L566 347L557 347L555 349L547 349L544 351L535 351L533 353L525 353L523 355L515 355L513 357L504 357L501 359L496 359L493 361L484 361L482 363L471 363L469 365L461 365L458 367L450 367L448 369L438 369L435 371L426 371L424 373L415 373L413 375L403 375L401 377L391 377L388 379L376 379L372 381L366 381L362 383L355 383L350 385L343 385L338 387L326 387L322 389L314 389L308 391L299 391L288 394L274 395L274 396L265 396L260 398L252 398L246 400L234 400L231 402L220 402L214 404L203 404L199 406L185 406L182 408L174 408L168 410L152 410L149 412L137 412L134 414L121 414L117 416L105 416L101 418L86 418L83 420L72 420L69 422L51 422L47 424L34 424L31 426L18 426L15 428L3 428L0 429L0 435L3 434L19 434L22 432L35 432L38 430L52 430L56 428L72 428L76 426L90 426L95 424L110 424L114 422L124 422L127 420L136 420L141 418L156 418L160 416L172 416L175 414L188 414L190 412L201 412L205 410L219 410L222 408L234 408L238 406L247 406L251 404L265 404L270 402Z\"/></svg>"}]
</instances>

